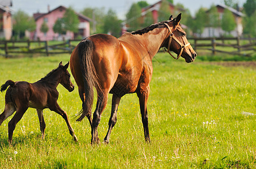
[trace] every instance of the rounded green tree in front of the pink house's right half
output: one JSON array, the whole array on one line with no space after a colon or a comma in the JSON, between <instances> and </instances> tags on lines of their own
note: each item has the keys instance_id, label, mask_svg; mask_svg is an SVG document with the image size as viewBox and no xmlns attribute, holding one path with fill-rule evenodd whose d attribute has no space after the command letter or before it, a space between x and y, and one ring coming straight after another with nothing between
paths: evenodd
<instances>
[{"instance_id":1,"label":"rounded green tree in front of the pink house's right half","mask_svg":"<svg viewBox=\"0 0 256 169\"><path fill-rule=\"evenodd\" d=\"M69 30L74 33L78 32L79 22L78 15L75 14L75 11L71 7L67 8L63 16L65 30Z\"/></svg>"}]
</instances>

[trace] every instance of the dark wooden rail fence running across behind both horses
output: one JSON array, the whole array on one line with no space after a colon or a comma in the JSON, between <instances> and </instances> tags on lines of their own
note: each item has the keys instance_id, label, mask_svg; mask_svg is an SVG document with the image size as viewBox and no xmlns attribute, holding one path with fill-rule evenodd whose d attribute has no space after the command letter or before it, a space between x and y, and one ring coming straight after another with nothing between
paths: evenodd
<instances>
[{"instance_id":1,"label":"dark wooden rail fence running across behind both horses","mask_svg":"<svg viewBox=\"0 0 256 169\"><path fill-rule=\"evenodd\" d=\"M256 51L256 38L188 38L197 53L210 51L212 55L251 56ZM10 57L13 54L64 54L70 53L80 42L76 41L0 41L0 55Z\"/></svg>"}]
</instances>

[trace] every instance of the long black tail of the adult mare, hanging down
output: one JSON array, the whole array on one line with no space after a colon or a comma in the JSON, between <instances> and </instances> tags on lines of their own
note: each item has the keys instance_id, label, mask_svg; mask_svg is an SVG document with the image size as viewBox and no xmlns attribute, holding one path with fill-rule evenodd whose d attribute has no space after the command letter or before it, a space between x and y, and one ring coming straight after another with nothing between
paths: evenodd
<instances>
[{"instance_id":1,"label":"long black tail of the adult mare, hanging down","mask_svg":"<svg viewBox=\"0 0 256 169\"><path fill-rule=\"evenodd\" d=\"M83 109L79 113L81 115L78 119L76 119L76 121L82 121L84 117L91 116L92 104L93 104L93 86L95 86L96 89L100 89L100 85L97 78L95 66L93 65L93 62L92 62L92 57L93 57L92 41L85 39L84 41L80 42L78 45L78 51L79 51L81 71L83 74L86 99L83 102Z\"/></svg>"}]
</instances>

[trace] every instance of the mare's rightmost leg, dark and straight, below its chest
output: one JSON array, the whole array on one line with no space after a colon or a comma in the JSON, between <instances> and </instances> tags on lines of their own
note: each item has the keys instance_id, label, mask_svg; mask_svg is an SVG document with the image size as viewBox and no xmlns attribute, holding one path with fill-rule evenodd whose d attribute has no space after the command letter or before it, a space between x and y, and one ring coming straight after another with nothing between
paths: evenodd
<instances>
[{"instance_id":1,"label":"mare's rightmost leg, dark and straight, below its chest","mask_svg":"<svg viewBox=\"0 0 256 169\"><path fill-rule=\"evenodd\" d=\"M147 113L147 101L150 95L150 86L147 86L143 91L138 91L140 113L142 114L142 123L144 128L145 140L150 142L150 132L148 131L148 113Z\"/></svg>"}]
</instances>

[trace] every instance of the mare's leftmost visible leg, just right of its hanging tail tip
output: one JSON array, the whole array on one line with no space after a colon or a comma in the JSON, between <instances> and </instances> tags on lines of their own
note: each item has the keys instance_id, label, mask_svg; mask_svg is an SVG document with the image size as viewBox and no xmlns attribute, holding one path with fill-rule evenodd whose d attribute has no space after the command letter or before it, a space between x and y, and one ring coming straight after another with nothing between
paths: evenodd
<instances>
[{"instance_id":1,"label":"mare's leftmost visible leg, just right of its hanging tail tip","mask_svg":"<svg viewBox=\"0 0 256 169\"><path fill-rule=\"evenodd\" d=\"M91 143L100 143L100 139L98 137L97 128L100 123L100 117L103 110L106 108L106 103L108 102L108 92L101 92L98 94L97 105L95 112L93 113L92 119L92 140Z\"/></svg>"}]
</instances>

